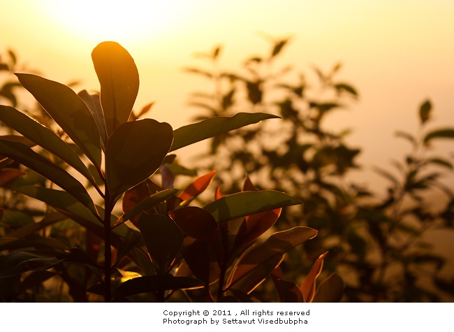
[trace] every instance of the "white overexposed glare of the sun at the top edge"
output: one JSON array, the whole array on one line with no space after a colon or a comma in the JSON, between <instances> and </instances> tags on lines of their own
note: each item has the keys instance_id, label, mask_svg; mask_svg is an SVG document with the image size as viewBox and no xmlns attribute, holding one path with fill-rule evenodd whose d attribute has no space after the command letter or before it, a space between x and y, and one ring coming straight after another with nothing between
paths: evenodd
<instances>
[{"instance_id":1,"label":"white overexposed glare of the sun at the top edge","mask_svg":"<svg viewBox=\"0 0 454 332\"><path fill-rule=\"evenodd\" d=\"M42 5L59 27L91 41L139 41L179 22L183 0L45 0Z\"/></svg>"}]
</instances>

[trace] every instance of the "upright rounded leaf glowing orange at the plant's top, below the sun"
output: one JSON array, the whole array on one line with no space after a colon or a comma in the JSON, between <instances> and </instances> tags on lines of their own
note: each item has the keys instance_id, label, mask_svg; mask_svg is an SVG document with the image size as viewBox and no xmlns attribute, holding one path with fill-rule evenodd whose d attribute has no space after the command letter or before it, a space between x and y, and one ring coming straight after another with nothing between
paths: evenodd
<instances>
[{"instance_id":1,"label":"upright rounded leaf glowing orange at the plant's top, below the sun","mask_svg":"<svg viewBox=\"0 0 454 332\"><path fill-rule=\"evenodd\" d=\"M101 84L101 105L110 137L129 119L139 91L139 73L134 59L119 43L98 44L91 59Z\"/></svg>"}]
</instances>

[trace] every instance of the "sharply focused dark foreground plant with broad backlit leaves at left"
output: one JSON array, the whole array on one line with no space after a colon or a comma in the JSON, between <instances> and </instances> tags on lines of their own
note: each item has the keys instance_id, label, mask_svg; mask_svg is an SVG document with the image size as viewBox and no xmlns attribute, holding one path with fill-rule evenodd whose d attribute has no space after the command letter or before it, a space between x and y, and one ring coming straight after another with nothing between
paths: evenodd
<instances>
[{"instance_id":1,"label":"sharply focused dark foreground plant with broad backlit leaves at left","mask_svg":"<svg viewBox=\"0 0 454 332\"><path fill-rule=\"evenodd\" d=\"M218 189L191 205L214 172L174 188L193 172L169 152L276 116L239 113L175 130L139 119L150 106L132 113L139 76L129 52L104 42L91 57L100 94L16 73L45 116L22 113L8 96L13 105L0 106L14 131L0 139L2 301L260 301L251 293L267 278L281 301L339 301L337 275L316 287L326 254L300 286L281 275L284 254L317 234L270 231L298 199L247 178L240 192Z\"/></svg>"}]
</instances>

